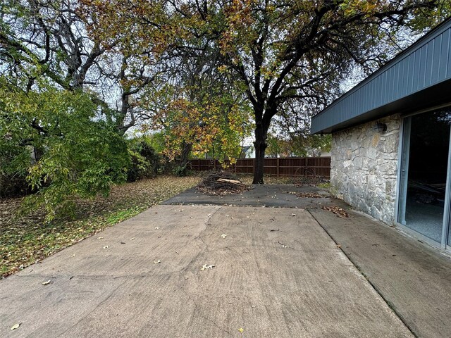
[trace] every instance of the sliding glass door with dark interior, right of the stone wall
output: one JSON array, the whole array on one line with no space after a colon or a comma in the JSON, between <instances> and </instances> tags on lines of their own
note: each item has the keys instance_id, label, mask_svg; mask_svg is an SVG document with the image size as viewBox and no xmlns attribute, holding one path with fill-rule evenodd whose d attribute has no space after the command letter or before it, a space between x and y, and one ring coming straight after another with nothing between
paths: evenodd
<instances>
[{"instance_id":1,"label":"sliding glass door with dark interior, right of the stone wall","mask_svg":"<svg viewBox=\"0 0 451 338\"><path fill-rule=\"evenodd\" d=\"M451 109L404 118L398 222L448 242ZM451 237L450 237L451 242Z\"/></svg>"}]
</instances>

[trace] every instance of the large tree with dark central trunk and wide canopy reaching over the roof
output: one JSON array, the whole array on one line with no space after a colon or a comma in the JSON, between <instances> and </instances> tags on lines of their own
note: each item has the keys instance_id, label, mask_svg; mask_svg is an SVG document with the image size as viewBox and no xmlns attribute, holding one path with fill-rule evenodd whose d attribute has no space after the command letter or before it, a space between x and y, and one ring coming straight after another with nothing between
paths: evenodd
<instances>
[{"instance_id":1,"label":"large tree with dark central trunk and wide canopy reaching over the roof","mask_svg":"<svg viewBox=\"0 0 451 338\"><path fill-rule=\"evenodd\" d=\"M244 84L252 105L254 184L264 182L266 139L276 115L323 108L355 65L375 69L399 47L406 27L425 27L449 10L444 0L86 1L114 13L119 30L134 37L148 32L161 50L220 51L221 69ZM425 20L428 15L435 16Z\"/></svg>"}]
</instances>

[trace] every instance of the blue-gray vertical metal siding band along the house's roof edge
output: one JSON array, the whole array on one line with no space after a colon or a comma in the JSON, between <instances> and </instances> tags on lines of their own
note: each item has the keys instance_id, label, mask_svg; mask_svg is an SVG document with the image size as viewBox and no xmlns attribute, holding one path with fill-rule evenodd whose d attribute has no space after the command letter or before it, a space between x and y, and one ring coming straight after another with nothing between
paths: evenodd
<instances>
[{"instance_id":1,"label":"blue-gray vertical metal siding band along the house's roof edge","mask_svg":"<svg viewBox=\"0 0 451 338\"><path fill-rule=\"evenodd\" d=\"M450 79L451 19L448 19L314 116L311 133L330 132L335 127L345 127L346 123L362 122L364 115L368 118L387 115L388 108L384 106Z\"/></svg>"}]
</instances>

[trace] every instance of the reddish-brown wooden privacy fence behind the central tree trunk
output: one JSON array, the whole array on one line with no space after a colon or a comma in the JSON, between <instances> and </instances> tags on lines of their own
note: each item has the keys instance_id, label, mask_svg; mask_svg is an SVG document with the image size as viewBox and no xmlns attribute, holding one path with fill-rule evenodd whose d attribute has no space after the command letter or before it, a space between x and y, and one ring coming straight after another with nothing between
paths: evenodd
<instances>
[{"instance_id":1,"label":"reddish-brown wooden privacy fence behind the central tree trunk","mask_svg":"<svg viewBox=\"0 0 451 338\"><path fill-rule=\"evenodd\" d=\"M235 173L252 174L255 158L238 158L230 165ZM188 165L194 171L207 171L221 168L218 160L195 158ZM287 157L265 158L264 173L274 176L330 177L330 157Z\"/></svg>"}]
</instances>

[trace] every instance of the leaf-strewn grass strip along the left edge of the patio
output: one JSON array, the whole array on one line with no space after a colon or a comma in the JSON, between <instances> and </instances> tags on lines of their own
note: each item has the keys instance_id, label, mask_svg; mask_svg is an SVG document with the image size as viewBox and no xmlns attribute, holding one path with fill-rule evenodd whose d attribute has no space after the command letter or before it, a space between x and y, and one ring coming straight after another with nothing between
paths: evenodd
<instances>
[{"instance_id":1,"label":"leaf-strewn grass strip along the left edge of the patio","mask_svg":"<svg viewBox=\"0 0 451 338\"><path fill-rule=\"evenodd\" d=\"M21 199L0 199L0 276L6 277L106 227L194 187L199 177L161 176L113 187L107 198L78 201L75 219L44 223L42 213L18 217Z\"/></svg>"}]
</instances>

